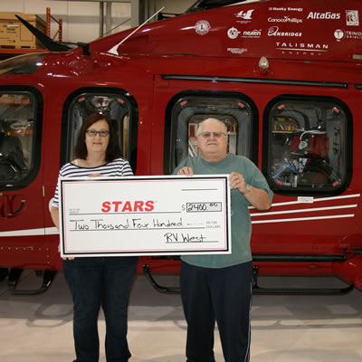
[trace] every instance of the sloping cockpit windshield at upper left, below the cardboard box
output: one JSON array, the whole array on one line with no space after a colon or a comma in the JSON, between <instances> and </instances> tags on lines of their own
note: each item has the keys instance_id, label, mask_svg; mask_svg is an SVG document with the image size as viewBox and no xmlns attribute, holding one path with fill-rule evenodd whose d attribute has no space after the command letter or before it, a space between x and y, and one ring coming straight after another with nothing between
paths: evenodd
<instances>
[{"instance_id":1,"label":"sloping cockpit windshield at upper left, below the cardboard box","mask_svg":"<svg viewBox=\"0 0 362 362\"><path fill-rule=\"evenodd\" d=\"M15 56L0 62L0 74L31 74L43 65L46 52Z\"/></svg>"}]
</instances>

